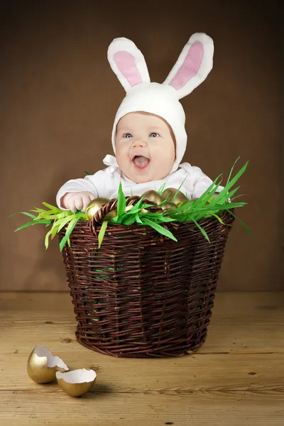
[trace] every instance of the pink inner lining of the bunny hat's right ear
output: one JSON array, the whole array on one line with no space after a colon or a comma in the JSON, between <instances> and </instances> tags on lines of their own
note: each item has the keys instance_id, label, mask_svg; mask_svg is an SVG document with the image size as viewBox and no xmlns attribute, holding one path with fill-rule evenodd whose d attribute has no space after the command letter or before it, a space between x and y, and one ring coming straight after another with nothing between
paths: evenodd
<instances>
[{"instance_id":1,"label":"pink inner lining of the bunny hat's right ear","mask_svg":"<svg viewBox=\"0 0 284 426\"><path fill-rule=\"evenodd\" d=\"M170 81L170 86L174 89L181 89L187 82L194 77L203 59L204 48L201 41L195 41L190 46L182 66L179 68L173 80Z\"/></svg>"}]
</instances>

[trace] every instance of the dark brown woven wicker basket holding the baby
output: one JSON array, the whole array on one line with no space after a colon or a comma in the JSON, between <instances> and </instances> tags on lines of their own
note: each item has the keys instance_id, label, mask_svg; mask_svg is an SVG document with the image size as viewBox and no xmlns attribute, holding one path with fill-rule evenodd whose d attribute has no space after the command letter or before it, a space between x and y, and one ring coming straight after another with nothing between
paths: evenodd
<instances>
[{"instance_id":1,"label":"dark brown woven wicker basket holding the baby","mask_svg":"<svg viewBox=\"0 0 284 426\"><path fill-rule=\"evenodd\" d=\"M220 217L234 220L227 212ZM150 226L109 224L97 249L100 225L90 222L77 222L62 251L77 341L121 357L196 351L207 336L231 226L204 219L209 244L191 222L168 224L178 242Z\"/></svg>"}]
</instances>

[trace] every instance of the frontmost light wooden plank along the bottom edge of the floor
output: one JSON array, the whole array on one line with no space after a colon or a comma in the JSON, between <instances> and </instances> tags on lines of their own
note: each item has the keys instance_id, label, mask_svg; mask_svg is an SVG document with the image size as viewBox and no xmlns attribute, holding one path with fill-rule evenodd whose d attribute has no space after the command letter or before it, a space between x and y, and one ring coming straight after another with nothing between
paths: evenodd
<instances>
[{"instance_id":1,"label":"frontmost light wooden plank along the bottom edge of the floor","mask_svg":"<svg viewBox=\"0 0 284 426\"><path fill-rule=\"evenodd\" d=\"M283 426L283 395L0 392L1 426Z\"/></svg>"}]
</instances>

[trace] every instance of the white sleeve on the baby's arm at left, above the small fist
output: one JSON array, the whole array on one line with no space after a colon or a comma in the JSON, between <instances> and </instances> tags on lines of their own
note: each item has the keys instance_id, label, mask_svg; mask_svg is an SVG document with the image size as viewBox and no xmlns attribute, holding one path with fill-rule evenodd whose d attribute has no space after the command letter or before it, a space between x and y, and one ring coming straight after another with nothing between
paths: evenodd
<instances>
[{"instance_id":1,"label":"white sleeve on the baby's arm at left, above the small fist","mask_svg":"<svg viewBox=\"0 0 284 426\"><path fill-rule=\"evenodd\" d=\"M111 187L111 172L109 168L99 170L94 175L87 175L84 178L68 180L56 195L56 204L62 210L63 207L60 204L61 198L67 192L91 192L94 197L107 197L109 188Z\"/></svg>"}]
</instances>

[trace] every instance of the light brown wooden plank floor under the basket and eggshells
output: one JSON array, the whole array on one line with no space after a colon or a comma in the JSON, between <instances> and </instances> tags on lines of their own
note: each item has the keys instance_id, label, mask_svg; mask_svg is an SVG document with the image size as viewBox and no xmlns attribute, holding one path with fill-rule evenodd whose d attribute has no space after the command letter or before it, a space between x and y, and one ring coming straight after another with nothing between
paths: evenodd
<instances>
[{"instance_id":1,"label":"light brown wooden plank floor under the basket and eggshells","mask_svg":"<svg viewBox=\"0 0 284 426\"><path fill-rule=\"evenodd\" d=\"M177 359L114 359L75 341L66 293L0 293L0 425L283 426L283 293L219 293L207 342ZM83 398L26 373L36 344L92 367Z\"/></svg>"}]
</instances>

